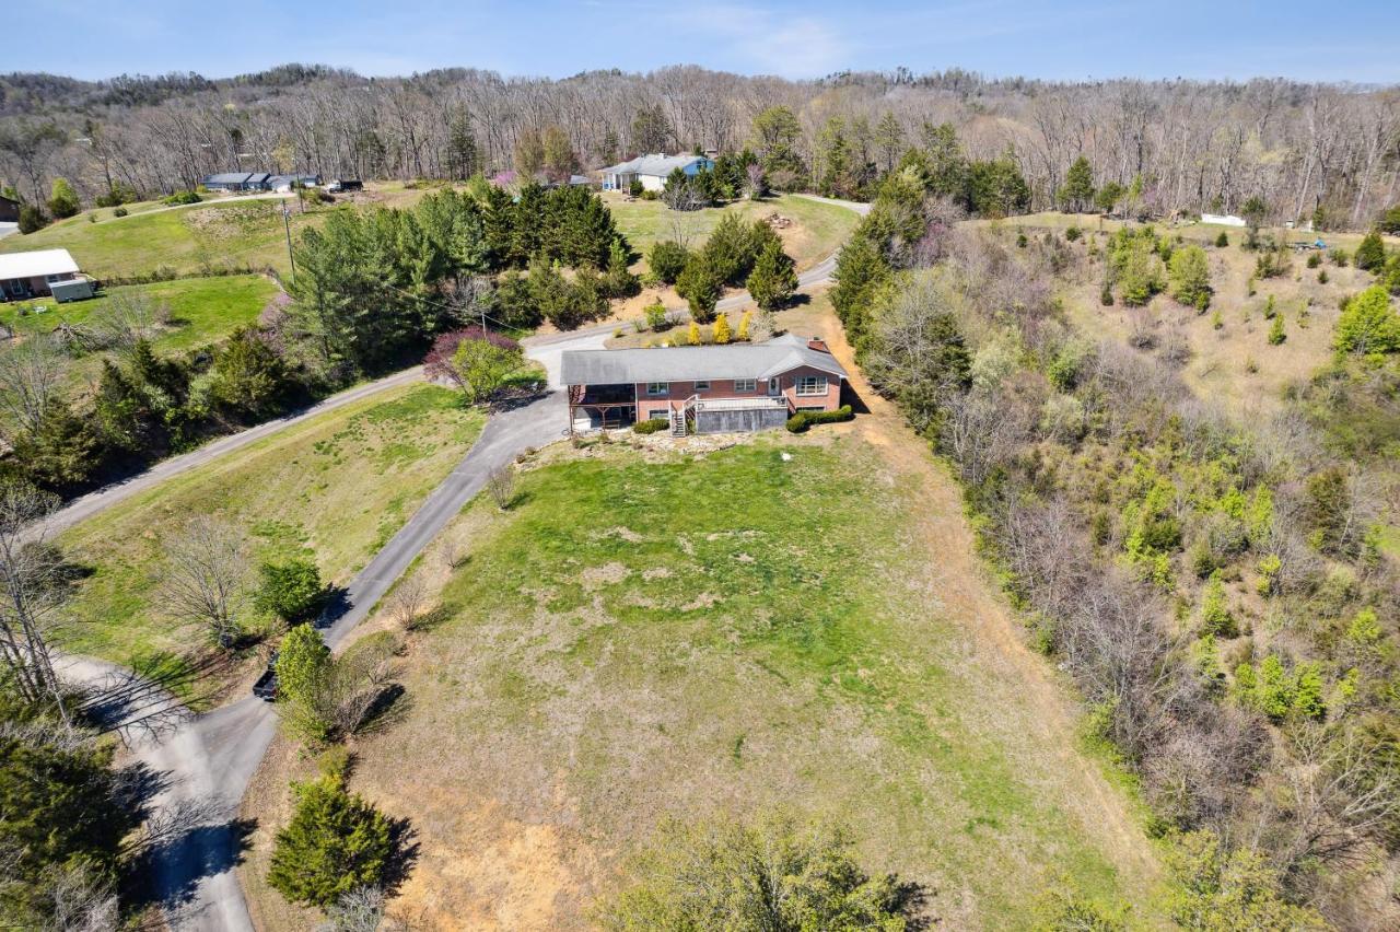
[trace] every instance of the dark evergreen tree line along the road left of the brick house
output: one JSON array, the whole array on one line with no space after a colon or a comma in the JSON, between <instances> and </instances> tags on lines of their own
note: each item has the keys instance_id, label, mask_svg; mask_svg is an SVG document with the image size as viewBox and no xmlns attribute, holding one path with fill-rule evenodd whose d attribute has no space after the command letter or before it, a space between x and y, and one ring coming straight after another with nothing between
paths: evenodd
<instances>
[{"instance_id":1,"label":"dark evergreen tree line along the road left of the brick house","mask_svg":"<svg viewBox=\"0 0 1400 932\"><path fill-rule=\"evenodd\" d=\"M291 301L190 353L154 348L169 312L140 291L4 347L0 472L73 494L407 365L468 323L574 327L638 288L626 239L582 188L480 185L412 210L337 210L294 259ZM94 388L80 393L73 360L94 353Z\"/></svg>"}]
</instances>

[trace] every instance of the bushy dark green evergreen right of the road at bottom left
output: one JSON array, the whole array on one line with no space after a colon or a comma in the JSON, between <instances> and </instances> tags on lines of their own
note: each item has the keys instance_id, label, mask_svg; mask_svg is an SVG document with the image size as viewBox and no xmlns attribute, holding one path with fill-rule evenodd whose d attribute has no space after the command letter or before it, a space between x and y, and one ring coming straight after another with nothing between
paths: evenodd
<instances>
[{"instance_id":1,"label":"bushy dark green evergreen right of the road at bottom left","mask_svg":"<svg viewBox=\"0 0 1400 932\"><path fill-rule=\"evenodd\" d=\"M326 907L360 887L378 887L393 855L389 819L344 781L293 784L297 809L277 833L267 883L293 903Z\"/></svg>"}]
</instances>

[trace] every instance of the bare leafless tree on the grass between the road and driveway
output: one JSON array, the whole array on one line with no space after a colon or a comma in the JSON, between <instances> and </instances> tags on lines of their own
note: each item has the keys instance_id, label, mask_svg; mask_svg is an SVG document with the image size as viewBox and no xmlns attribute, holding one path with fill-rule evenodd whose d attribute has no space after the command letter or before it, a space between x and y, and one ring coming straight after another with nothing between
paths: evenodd
<instances>
[{"instance_id":1,"label":"bare leafless tree on the grass between the road and driveway","mask_svg":"<svg viewBox=\"0 0 1400 932\"><path fill-rule=\"evenodd\" d=\"M200 515L171 535L164 549L161 595L167 610L230 647L248 596L242 536L218 518Z\"/></svg>"}]
</instances>

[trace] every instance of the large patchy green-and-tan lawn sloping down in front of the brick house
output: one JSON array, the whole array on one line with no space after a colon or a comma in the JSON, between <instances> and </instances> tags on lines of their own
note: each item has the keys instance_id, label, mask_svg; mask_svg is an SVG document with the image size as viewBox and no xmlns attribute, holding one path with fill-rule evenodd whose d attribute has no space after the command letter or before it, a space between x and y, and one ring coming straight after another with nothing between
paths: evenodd
<instances>
[{"instance_id":1,"label":"large patchy green-and-tan lawn sloping down in front of the brick house","mask_svg":"<svg viewBox=\"0 0 1400 932\"><path fill-rule=\"evenodd\" d=\"M407 914L587 928L664 816L771 806L850 826L951 928L1026 928L1060 876L1149 900L1067 805L1096 764L1065 768L1072 736L1028 728L1015 668L944 617L969 581L868 446L563 456L463 516L406 719L358 746L357 789L419 831Z\"/></svg>"}]
</instances>

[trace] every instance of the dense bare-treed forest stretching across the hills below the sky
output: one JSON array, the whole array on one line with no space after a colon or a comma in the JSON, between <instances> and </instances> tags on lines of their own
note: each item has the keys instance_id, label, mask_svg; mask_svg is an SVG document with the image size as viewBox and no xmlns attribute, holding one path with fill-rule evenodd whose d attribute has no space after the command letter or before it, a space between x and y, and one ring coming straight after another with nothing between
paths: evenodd
<instances>
[{"instance_id":1,"label":"dense bare-treed forest stretching across the hills below the sky","mask_svg":"<svg viewBox=\"0 0 1400 932\"><path fill-rule=\"evenodd\" d=\"M1018 168L1028 183L1018 210L1061 203L1081 155L1100 183L1135 190L1155 216L1239 213L1259 197L1270 221L1365 228L1400 192L1397 88L903 69L787 81L690 66L564 80L470 69L364 78L298 64L221 80L10 74L0 77L0 178L34 203L56 178L85 202L189 189L234 168L468 178L539 167L553 133L578 168L749 146L778 188L865 197L941 125L974 161Z\"/></svg>"}]
</instances>

